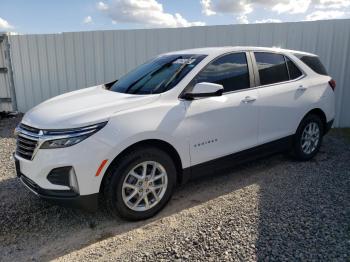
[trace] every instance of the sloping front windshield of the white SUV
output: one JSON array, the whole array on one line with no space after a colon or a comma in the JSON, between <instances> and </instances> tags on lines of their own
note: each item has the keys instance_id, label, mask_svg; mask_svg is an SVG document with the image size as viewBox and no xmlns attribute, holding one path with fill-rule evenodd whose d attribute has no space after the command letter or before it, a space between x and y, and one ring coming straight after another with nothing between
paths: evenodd
<instances>
[{"instance_id":1,"label":"sloping front windshield of the white SUV","mask_svg":"<svg viewBox=\"0 0 350 262\"><path fill-rule=\"evenodd\" d=\"M205 55L165 55L146 62L115 82L110 90L126 94L159 94L173 88Z\"/></svg>"}]
</instances>

